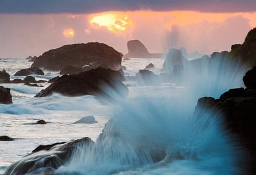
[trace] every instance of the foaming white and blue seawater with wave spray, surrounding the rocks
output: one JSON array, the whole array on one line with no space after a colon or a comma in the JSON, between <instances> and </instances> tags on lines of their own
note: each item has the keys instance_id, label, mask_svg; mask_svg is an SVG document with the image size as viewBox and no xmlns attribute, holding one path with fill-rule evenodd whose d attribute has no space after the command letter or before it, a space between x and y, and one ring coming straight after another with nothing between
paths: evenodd
<instances>
[{"instance_id":1,"label":"foaming white and blue seawater with wave spray, surrounding the rocks","mask_svg":"<svg viewBox=\"0 0 256 175\"><path fill-rule=\"evenodd\" d=\"M126 76L134 76L149 63L159 74L164 59L122 61ZM6 69L11 79L15 72L31 64L25 59L0 60L0 68ZM95 145L77 148L71 160L57 170L58 174L240 174L244 167L239 164L246 151L224 130L220 116L209 111L201 111L200 119L194 115L198 98L219 98L228 89L243 86L241 77L245 71L223 66L227 66L224 72L213 69L204 80L190 74L185 78L190 85L181 82L138 86L126 81L129 95L116 102L60 94L33 98L48 83L39 83L43 88L2 84L11 88L13 104L0 104L0 135L15 140L0 142L0 174L39 144L82 137L90 137ZM43 71L45 75L33 75L36 80L59 74ZM73 124L86 115L93 115L98 123ZM47 124L28 125L40 119ZM109 120L107 134L98 137ZM155 161L152 151L161 152L164 159Z\"/></svg>"}]
</instances>

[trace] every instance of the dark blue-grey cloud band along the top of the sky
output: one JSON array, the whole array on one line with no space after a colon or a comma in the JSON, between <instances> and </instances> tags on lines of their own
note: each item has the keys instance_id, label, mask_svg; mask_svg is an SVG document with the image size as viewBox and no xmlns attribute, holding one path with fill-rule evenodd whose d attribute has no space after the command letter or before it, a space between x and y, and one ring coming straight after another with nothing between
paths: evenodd
<instances>
[{"instance_id":1,"label":"dark blue-grey cloud band along the top of the sky","mask_svg":"<svg viewBox=\"0 0 256 175\"><path fill-rule=\"evenodd\" d=\"M97 13L104 11L251 12L255 0L0 0L0 13Z\"/></svg>"}]
</instances>

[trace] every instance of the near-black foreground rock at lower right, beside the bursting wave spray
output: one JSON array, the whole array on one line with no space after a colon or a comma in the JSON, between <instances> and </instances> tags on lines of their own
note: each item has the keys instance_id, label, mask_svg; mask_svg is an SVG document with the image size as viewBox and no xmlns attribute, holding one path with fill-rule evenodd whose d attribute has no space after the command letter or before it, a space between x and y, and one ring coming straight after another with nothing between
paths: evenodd
<instances>
[{"instance_id":1,"label":"near-black foreground rock at lower right, beside the bursting wave spray","mask_svg":"<svg viewBox=\"0 0 256 175\"><path fill-rule=\"evenodd\" d=\"M250 75L250 71L248 72L245 77ZM249 79L248 82L254 84L256 79ZM204 114L206 113L205 110L210 110L210 113L221 116L224 119L226 130L236 135L240 144L249 150L249 174L255 174L256 89L253 85L249 87L251 89L231 89L222 94L217 100L211 97L200 98L195 108L195 114L203 117L200 111L204 109Z\"/></svg>"}]
</instances>

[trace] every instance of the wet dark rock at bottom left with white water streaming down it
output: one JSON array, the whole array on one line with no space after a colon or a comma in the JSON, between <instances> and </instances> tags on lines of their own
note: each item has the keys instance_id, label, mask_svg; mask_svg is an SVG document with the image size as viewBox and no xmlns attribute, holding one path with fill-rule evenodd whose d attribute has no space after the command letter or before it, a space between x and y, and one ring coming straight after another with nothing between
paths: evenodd
<instances>
[{"instance_id":1,"label":"wet dark rock at bottom left with white water streaming down it","mask_svg":"<svg viewBox=\"0 0 256 175\"><path fill-rule=\"evenodd\" d=\"M9 166L5 174L55 174L54 171L70 159L76 147L83 145L85 149L93 144L90 138L85 137L66 143L40 145L31 154Z\"/></svg>"}]
</instances>

